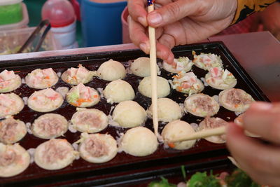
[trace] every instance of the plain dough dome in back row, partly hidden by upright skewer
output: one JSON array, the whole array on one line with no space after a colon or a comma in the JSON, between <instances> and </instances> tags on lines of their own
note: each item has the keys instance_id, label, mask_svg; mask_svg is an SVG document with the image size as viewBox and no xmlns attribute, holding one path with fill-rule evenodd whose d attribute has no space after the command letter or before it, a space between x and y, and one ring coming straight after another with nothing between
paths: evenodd
<instances>
[{"instance_id":1,"label":"plain dough dome in back row, partly hidden by upright skewer","mask_svg":"<svg viewBox=\"0 0 280 187\"><path fill-rule=\"evenodd\" d=\"M134 60L130 65L132 74L136 76L151 76L151 67L150 67L150 58L148 57L139 57L137 60ZM160 68L157 65L158 75L160 74Z\"/></svg>"}]
</instances>

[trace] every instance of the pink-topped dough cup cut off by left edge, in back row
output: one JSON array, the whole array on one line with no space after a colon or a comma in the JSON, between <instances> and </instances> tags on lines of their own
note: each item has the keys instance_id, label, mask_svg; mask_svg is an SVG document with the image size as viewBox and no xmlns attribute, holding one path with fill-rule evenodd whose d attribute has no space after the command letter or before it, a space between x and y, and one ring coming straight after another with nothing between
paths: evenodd
<instances>
[{"instance_id":1,"label":"pink-topped dough cup cut off by left edge, in back row","mask_svg":"<svg viewBox=\"0 0 280 187\"><path fill-rule=\"evenodd\" d=\"M10 92L20 87L22 79L13 71L6 69L0 73L0 93Z\"/></svg>"}]
</instances>

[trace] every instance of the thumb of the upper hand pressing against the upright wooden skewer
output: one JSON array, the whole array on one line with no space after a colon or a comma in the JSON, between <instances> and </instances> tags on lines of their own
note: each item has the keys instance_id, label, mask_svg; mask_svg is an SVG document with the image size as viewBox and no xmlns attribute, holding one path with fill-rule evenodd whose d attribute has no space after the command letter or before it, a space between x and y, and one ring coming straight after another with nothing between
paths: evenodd
<instances>
[{"instance_id":1,"label":"thumb of the upper hand pressing against the upright wooden skewer","mask_svg":"<svg viewBox=\"0 0 280 187\"><path fill-rule=\"evenodd\" d=\"M198 3L200 2L200 4ZM202 1L179 0L158 8L148 14L148 25L151 27L162 27L172 22L176 22L194 13L202 13Z\"/></svg>"}]
</instances>

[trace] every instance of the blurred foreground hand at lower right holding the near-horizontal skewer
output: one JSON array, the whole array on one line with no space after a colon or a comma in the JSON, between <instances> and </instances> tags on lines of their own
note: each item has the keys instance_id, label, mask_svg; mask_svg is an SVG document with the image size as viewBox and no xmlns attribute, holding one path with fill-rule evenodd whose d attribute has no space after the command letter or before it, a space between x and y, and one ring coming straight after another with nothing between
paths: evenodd
<instances>
[{"instance_id":1,"label":"blurred foreground hand at lower right holding the near-horizontal skewer","mask_svg":"<svg viewBox=\"0 0 280 187\"><path fill-rule=\"evenodd\" d=\"M280 186L280 103L255 102L244 113L244 129L269 141L244 135L242 127L231 123L227 130L227 146L241 169L265 185Z\"/></svg>"}]
</instances>

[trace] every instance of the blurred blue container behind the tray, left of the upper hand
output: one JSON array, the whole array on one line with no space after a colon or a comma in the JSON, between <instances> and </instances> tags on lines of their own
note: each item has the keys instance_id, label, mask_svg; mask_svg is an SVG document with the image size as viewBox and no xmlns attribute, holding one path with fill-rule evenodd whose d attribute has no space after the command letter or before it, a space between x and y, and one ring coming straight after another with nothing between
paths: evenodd
<instances>
[{"instance_id":1,"label":"blurred blue container behind the tray, left of the upper hand","mask_svg":"<svg viewBox=\"0 0 280 187\"><path fill-rule=\"evenodd\" d=\"M121 14L127 1L99 4L81 0L83 45L109 46L123 43Z\"/></svg>"}]
</instances>

